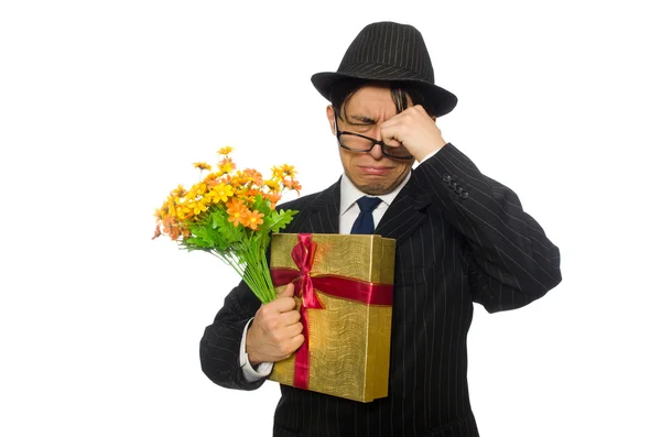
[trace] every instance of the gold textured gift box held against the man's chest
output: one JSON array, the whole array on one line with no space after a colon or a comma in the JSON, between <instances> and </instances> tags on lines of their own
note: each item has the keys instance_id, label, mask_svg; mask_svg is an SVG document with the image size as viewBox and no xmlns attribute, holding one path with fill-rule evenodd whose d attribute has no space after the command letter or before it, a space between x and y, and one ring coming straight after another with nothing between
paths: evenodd
<instances>
[{"instance_id":1,"label":"gold textured gift box held against the man's chest","mask_svg":"<svg viewBox=\"0 0 661 437\"><path fill-rule=\"evenodd\" d=\"M310 277L321 305L301 308L302 298L297 293L299 309L302 316L306 313L307 318L307 332L304 332L307 345L277 362L269 379L359 402L388 396L395 241L380 236L308 236L316 243ZM300 244L296 233L272 236L272 271L301 274L301 267L292 259L292 249L296 244ZM338 277L349 280L351 286L335 286L334 289L328 289L327 284L321 286L324 278L333 282ZM280 292L289 282L275 289ZM380 297L361 298L358 295L365 296L365 293L356 293L355 285L364 292L368 289L370 296L369 291L376 289L373 295ZM303 360L307 365L303 372L307 373L305 384L295 376L295 372L299 376L302 372L296 369L296 360Z\"/></svg>"}]
</instances>

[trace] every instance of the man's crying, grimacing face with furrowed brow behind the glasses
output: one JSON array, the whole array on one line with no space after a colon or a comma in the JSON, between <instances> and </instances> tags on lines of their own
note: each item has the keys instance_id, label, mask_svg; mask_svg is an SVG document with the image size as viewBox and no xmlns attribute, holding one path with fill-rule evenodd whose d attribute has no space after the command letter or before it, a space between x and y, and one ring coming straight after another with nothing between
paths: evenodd
<instances>
[{"instance_id":1,"label":"man's crying, grimacing face with furrowed brow behind the glasses","mask_svg":"<svg viewBox=\"0 0 661 437\"><path fill-rule=\"evenodd\" d=\"M412 106L409 99L409 106ZM329 106L326 110L330 129L335 134L335 116ZM342 116L337 116L337 129L360 133L381 140L381 123L397 114L389 88L368 86L359 89L346 102ZM413 160L384 156L380 145L368 153L339 149L345 174L362 193L383 195L392 192L407 177Z\"/></svg>"}]
</instances>

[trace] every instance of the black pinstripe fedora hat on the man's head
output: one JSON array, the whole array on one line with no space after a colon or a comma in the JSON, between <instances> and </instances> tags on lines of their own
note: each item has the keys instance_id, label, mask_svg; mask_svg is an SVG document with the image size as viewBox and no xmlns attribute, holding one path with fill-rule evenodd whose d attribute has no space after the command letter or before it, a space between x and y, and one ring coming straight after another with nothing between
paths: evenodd
<instances>
[{"instance_id":1,"label":"black pinstripe fedora hat on the man's head","mask_svg":"<svg viewBox=\"0 0 661 437\"><path fill-rule=\"evenodd\" d=\"M415 84L430 116L444 116L457 105L454 94L434 85L434 68L422 34L409 24L368 24L347 48L337 72L317 73L312 84L330 100L333 86L346 78Z\"/></svg>"}]
</instances>

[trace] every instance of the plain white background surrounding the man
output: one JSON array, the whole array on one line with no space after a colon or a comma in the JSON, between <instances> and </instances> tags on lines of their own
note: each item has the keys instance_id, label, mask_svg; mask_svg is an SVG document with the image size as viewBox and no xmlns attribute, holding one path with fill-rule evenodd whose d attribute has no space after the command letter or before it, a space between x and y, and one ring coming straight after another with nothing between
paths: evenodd
<instances>
[{"instance_id":1,"label":"plain white background surrounding the man","mask_svg":"<svg viewBox=\"0 0 661 437\"><path fill-rule=\"evenodd\" d=\"M480 433L661 435L653 3L3 1L0 435L270 435L275 383L199 370L238 277L152 241L152 214L226 144L239 167L294 165L303 194L335 182L310 76L380 20L423 33L459 98L445 139L562 253L543 299L476 306Z\"/></svg>"}]
</instances>

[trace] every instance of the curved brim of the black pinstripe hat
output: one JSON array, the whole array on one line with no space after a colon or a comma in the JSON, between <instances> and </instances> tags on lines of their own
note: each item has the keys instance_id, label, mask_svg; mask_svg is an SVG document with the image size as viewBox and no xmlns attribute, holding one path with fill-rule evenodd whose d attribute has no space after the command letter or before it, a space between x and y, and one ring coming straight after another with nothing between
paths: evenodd
<instances>
[{"instance_id":1,"label":"curved brim of the black pinstripe hat","mask_svg":"<svg viewBox=\"0 0 661 437\"><path fill-rule=\"evenodd\" d=\"M312 76L312 85L326 100L330 100L330 90L333 86L343 79L365 79L365 80L388 80L398 83L414 84L415 87L425 96L425 107L431 112L430 116L442 117L449 113L457 106L457 97L440 86L430 84L425 80L405 79L405 78L379 78L361 76L359 74L342 73L317 73Z\"/></svg>"}]
</instances>

